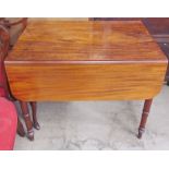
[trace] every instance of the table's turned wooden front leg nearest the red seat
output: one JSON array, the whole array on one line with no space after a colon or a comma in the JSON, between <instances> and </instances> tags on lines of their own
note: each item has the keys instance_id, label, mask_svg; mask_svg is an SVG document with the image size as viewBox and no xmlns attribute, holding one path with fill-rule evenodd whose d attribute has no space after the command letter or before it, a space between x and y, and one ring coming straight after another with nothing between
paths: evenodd
<instances>
[{"instance_id":1,"label":"table's turned wooden front leg nearest the red seat","mask_svg":"<svg viewBox=\"0 0 169 169\"><path fill-rule=\"evenodd\" d=\"M33 131L33 123L29 117L29 111L28 111L28 105L25 101L20 101L21 104L21 109L24 116L24 120L26 123L26 128L27 128L27 137L33 141L34 140L34 131Z\"/></svg>"}]
</instances>

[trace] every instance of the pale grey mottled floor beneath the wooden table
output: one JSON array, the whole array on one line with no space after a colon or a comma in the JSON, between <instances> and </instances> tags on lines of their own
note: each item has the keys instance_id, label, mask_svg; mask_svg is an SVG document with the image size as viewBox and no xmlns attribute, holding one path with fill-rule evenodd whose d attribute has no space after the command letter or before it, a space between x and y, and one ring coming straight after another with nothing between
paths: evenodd
<instances>
[{"instance_id":1,"label":"pale grey mottled floor beneath the wooden table","mask_svg":"<svg viewBox=\"0 0 169 169\"><path fill-rule=\"evenodd\" d=\"M14 149L169 149L169 86L154 99L146 132L136 137L143 101L38 102L35 141Z\"/></svg>"}]
</instances>

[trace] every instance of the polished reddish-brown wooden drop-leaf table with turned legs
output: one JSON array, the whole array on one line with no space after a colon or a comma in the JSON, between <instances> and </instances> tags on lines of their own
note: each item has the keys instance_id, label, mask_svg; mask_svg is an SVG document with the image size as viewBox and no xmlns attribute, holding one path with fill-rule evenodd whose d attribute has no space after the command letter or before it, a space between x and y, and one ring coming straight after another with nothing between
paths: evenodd
<instances>
[{"instance_id":1,"label":"polished reddish-brown wooden drop-leaf table with turned legs","mask_svg":"<svg viewBox=\"0 0 169 169\"><path fill-rule=\"evenodd\" d=\"M12 94L27 101L145 99L138 137L167 59L140 21L33 21L5 60Z\"/></svg>"}]
</instances>

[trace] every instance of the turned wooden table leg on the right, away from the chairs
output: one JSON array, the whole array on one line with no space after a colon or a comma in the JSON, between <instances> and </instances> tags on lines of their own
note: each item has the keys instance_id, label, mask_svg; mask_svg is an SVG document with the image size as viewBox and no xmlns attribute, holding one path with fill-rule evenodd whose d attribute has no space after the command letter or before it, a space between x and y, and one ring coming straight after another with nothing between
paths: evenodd
<instances>
[{"instance_id":1,"label":"turned wooden table leg on the right, away from the chairs","mask_svg":"<svg viewBox=\"0 0 169 169\"><path fill-rule=\"evenodd\" d=\"M138 135L137 135L138 138L142 138L142 135L145 131L145 124L146 124L147 117L148 117L148 113L150 110L152 101L153 101L153 99L146 99L144 102L142 119L141 119L141 123L140 123L140 128L138 128Z\"/></svg>"}]
</instances>

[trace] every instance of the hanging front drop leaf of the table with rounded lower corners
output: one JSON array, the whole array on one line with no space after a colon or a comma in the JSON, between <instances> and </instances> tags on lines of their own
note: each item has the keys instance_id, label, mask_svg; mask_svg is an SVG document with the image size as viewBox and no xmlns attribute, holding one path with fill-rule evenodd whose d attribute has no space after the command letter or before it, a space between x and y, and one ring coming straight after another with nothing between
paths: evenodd
<instances>
[{"instance_id":1,"label":"hanging front drop leaf of the table with rounded lower corners","mask_svg":"<svg viewBox=\"0 0 169 169\"><path fill-rule=\"evenodd\" d=\"M129 100L158 94L166 64L8 64L7 71L12 93L24 101Z\"/></svg>"}]
</instances>

